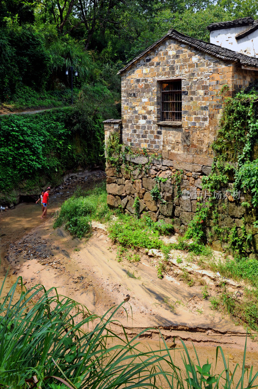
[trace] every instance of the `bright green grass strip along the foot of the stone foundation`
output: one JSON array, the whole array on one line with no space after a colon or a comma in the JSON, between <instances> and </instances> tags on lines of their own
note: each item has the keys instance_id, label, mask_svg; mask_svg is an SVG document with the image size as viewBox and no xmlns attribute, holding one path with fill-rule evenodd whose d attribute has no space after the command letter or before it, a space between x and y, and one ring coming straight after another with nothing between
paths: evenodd
<instances>
[{"instance_id":1,"label":"bright green grass strip along the foot of the stone foundation","mask_svg":"<svg viewBox=\"0 0 258 389\"><path fill-rule=\"evenodd\" d=\"M113 216L113 217L112 217ZM173 231L172 224L163 221L153 222L147 213L138 219L133 215L122 214L121 211L112 211L107 206L107 192L105 183L97 185L95 189L83 192L78 188L74 195L67 199L56 214L53 227L65 226L72 235L82 237L91 232L92 220L109 222L109 236L118 244L117 260L127 259L129 262L139 262L140 256L132 250L138 248L157 248L167 261L171 245L166 245L160 235ZM128 252L130 249L130 252ZM159 266L159 277L162 278L162 266Z\"/></svg>"}]
</instances>

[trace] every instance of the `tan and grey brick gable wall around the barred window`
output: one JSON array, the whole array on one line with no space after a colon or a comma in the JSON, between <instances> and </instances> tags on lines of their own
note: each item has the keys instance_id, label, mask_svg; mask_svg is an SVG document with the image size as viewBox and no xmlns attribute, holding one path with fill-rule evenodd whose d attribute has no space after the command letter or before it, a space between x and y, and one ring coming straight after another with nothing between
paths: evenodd
<instances>
[{"instance_id":1,"label":"tan and grey brick gable wall around the barred window","mask_svg":"<svg viewBox=\"0 0 258 389\"><path fill-rule=\"evenodd\" d=\"M122 140L154 151L212 156L223 85L232 87L232 64L172 39L122 75ZM182 122L160 123L161 81L182 80ZM159 124L160 123L160 124ZM177 127L175 127L177 126Z\"/></svg>"}]
</instances>

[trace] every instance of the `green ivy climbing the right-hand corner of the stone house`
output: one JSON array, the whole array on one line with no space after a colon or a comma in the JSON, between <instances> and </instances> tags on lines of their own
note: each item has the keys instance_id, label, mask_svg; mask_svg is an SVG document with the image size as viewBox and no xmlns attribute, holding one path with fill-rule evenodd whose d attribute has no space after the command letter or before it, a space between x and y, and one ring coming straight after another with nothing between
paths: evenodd
<instances>
[{"instance_id":1,"label":"green ivy climbing the right-hand corner of the stone house","mask_svg":"<svg viewBox=\"0 0 258 389\"><path fill-rule=\"evenodd\" d=\"M202 177L203 189L209 191L208 202L200 203L194 219L190 222L185 234L199 242L205 236L203 226L212 209L213 230L221 241L228 243L228 249L236 255L243 255L250 249L252 233L246 232L245 224L241 229L219 226L217 203L212 194L227 188L231 182L232 192L243 189L249 191L253 207L258 207L258 159L255 159L255 145L258 142L258 114L255 91L237 93L235 97L226 98L221 127L217 140L212 144L215 153L212 171L209 176ZM258 222L255 222L258 227Z\"/></svg>"}]
</instances>

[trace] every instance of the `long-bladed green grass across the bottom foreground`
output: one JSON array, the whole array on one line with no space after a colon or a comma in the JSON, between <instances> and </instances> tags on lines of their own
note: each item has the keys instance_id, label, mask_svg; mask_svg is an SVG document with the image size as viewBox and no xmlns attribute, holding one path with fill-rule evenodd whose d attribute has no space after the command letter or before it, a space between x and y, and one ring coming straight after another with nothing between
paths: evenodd
<instances>
[{"instance_id":1,"label":"long-bladed green grass across the bottom foreground","mask_svg":"<svg viewBox=\"0 0 258 389\"><path fill-rule=\"evenodd\" d=\"M21 292L20 286L21 283ZM2 289L0 291L2 293ZM15 298L14 298L15 296ZM123 302L124 303L124 302ZM230 371L221 347L224 370L212 373L209 361L194 361L182 343L180 370L173 361L174 350L161 337L158 350L143 352L139 337L129 339L113 331L114 315L123 303L102 317L61 296L55 288L36 285L30 290L18 278L0 300L0 387L9 389L86 388L257 388L258 373L244 368L240 379ZM146 350L146 346L145 346ZM62 385L61 385L62 384Z\"/></svg>"}]
</instances>

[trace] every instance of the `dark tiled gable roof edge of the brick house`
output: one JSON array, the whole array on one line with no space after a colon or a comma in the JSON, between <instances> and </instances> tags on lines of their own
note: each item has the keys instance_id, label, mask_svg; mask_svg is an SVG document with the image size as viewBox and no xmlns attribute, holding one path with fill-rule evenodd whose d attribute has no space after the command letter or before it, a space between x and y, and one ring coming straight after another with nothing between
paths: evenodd
<instances>
[{"instance_id":1,"label":"dark tiled gable roof edge of the brick house","mask_svg":"<svg viewBox=\"0 0 258 389\"><path fill-rule=\"evenodd\" d=\"M244 66L251 66L258 68L258 58L249 57L248 55L244 55L241 53L234 52L232 50L226 49L224 47L220 47L214 45L213 43L207 43L200 39L191 38L190 36L183 35L178 33L178 31L174 29L170 29L166 35L164 35L157 42L153 43L149 46L144 52L140 53L137 57L135 57L132 61L130 61L123 69L118 71L117 74L122 74L127 71L132 65L142 59L145 55L149 54L156 47L160 46L167 39L175 39L181 43L187 44L188 46L193 47L203 53L208 53L222 60L230 61L230 62L238 62Z\"/></svg>"}]
</instances>

